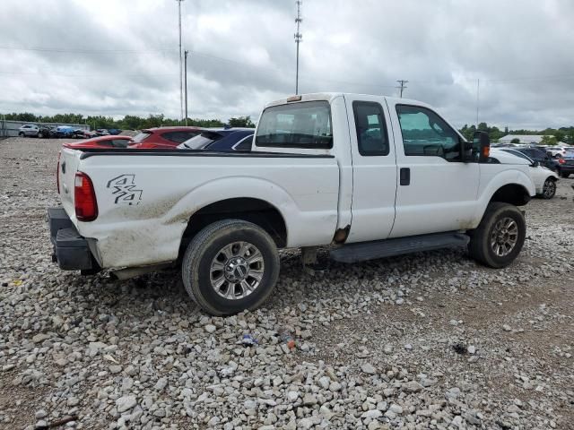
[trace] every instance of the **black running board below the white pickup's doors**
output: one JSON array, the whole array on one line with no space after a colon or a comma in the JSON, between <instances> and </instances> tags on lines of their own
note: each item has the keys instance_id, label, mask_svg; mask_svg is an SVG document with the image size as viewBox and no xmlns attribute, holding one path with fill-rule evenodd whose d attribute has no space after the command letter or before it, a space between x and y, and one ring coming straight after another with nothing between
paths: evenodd
<instances>
[{"instance_id":1,"label":"black running board below the white pickup's doors","mask_svg":"<svg viewBox=\"0 0 574 430\"><path fill-rule=\"evenodd\" d=\"M335 262L363 262L395 255L468 245L470 237L457 232L407 236L343 245L330 252Z\"/></svg>"}]
</instances>

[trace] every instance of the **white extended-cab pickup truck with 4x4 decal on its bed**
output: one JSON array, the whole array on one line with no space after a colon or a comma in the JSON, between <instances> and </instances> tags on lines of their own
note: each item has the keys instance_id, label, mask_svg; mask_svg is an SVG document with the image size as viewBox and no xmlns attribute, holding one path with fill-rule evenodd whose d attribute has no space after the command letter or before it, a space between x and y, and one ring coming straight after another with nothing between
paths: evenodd
<instances>
[{"instance_id":1,"label":"white extended-cab pickup truck with 4x4 decal on its bed","mask_svg":"<svg viewBox=\"0 0 574 430\"><path fill-rule=\"evenodd\" d=\"M512 262L528 166L490 163L430 106L318 93L268 104L251 151L63 148L62 206L48 210L54 260L126 278L180 266L211 314L254 309L279 275L279 248L339 262L468 246Z\"/></svg>"}]
</instances>

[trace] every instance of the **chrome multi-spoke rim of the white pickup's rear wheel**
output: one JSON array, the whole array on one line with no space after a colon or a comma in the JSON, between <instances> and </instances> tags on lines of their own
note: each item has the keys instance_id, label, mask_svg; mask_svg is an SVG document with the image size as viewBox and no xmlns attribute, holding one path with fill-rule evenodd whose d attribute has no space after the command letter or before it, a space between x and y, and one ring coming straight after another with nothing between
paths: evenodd
<instances>
[{"instance_id":1,"label":"chrome multi-spoke rim of the white pickup's rear wheel","mask_svg":"<svg viewBox=\"0 0 574 430\"><path fill-rule=\"evenodd\" d=\"M263 254L256 245L233 242L215 254L209 276L212 288L219 296L239 300L259 287L264 272Z\"/></svg>"}]
</instances>

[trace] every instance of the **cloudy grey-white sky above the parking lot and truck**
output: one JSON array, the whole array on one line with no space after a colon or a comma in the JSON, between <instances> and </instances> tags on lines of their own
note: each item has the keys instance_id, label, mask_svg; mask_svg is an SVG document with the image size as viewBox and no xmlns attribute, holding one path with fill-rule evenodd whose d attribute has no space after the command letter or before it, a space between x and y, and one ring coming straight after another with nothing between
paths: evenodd
<instances>
[{"instance_id":1,"label":"cloudy grey-white sky above the parking lot and truck","mask_svg":"<svg viewBox=\"0 0 574 430\"><path fill-rule=\"evenodd\" d=\"M189 116L294 93L294 0L185 0ZM574 125L572 0L303 0L300 92L404 97L455 125ZM175 0L2 0L0 112L179 116Z\"/></svg>"}]
</instances>

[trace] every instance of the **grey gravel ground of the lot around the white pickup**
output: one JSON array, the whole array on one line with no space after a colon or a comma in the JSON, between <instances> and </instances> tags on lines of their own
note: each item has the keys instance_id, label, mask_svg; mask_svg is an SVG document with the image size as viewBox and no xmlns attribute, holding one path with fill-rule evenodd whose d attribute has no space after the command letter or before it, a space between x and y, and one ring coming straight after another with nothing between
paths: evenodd
<instances>
[{"instance_id":1,"label":"grey gravel ground of the lot around the white pickup","mask_svg":"<svg viewBox=\"0 0 574 430\"><path fill-rule=\"evenodd\" d=\"M0 141L2 428L574 428L574 178L506 270L460 249L311 276L290 252L265 308L212 318L176 272L50 261L62 142Z\"/></svg>"}]
</instances>

